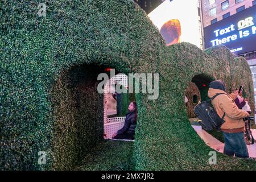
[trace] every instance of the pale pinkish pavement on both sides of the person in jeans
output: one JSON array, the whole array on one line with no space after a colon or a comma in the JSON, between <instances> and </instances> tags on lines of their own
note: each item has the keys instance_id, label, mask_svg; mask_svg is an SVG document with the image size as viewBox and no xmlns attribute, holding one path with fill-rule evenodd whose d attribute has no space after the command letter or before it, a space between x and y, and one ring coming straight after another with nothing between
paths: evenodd
<instances>
[{"instance_id":1,"label":"pale pinkish pavement on both sides of the person in jeans","mask_svg":"<svg viewBox=\"0 0 256 182\"><path fill-rule=\"evenodd\" d=\"M206 131L202 130L201 126L193 126L193 129L196 131L196 133L201 137L201 139L204 140L204 142L214 150L223 153L224 150L224 143L220 142L216 138L214 138L212 135L208 134ZM253 137L256 138L256 130L251 129L251 132L253 134ZM250 158L256 158L256 143L247 145L248 152Z\"/></svg>"}]
</instances>

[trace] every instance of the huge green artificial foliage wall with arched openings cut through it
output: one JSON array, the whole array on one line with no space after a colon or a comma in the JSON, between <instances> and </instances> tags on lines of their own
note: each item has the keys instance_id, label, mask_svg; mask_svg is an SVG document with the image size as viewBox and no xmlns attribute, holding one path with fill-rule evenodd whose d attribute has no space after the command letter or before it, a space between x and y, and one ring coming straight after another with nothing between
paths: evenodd
<instances>
[{"instance_id":1,"label":"huge green artificial foliage wall with arched openings cut through it","mask_svg":"<svg viewBox=\"0 0 256 182\"><path fill-rule=\"evenodd\" d=\"M228 88L246 85L254 108L245 59L234 59L225 47L166 47L133 1L46 1L46 16L37 14L39 3L1 2L0 169L77 165L103 138L103 96L96 88L106 67L159 73L157 100L135 95L134 169L255 169L253 160L221 154L209 165L212 149L189 125L184 105L193 78L216 78ZM200 90L202 100L206 92ZM45 165L38 163L40 151L46 152Z\"/></svg>"}]
</instances>

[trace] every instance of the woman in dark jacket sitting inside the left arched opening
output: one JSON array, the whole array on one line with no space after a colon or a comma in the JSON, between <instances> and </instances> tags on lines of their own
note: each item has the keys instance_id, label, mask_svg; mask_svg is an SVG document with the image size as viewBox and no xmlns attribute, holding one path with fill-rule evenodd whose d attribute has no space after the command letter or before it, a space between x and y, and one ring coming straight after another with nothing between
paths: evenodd
<instances>
[{"instance_id":1,"label":"woman in dark jacket sitting inside the left arched opening","mask_svg":"<svg viewBox=\"0 0 256 182\"><path fill-rule=\"evenodd\" d=\"M114 133L112 138L114 139L130 139L134 140L135 127L137 123L137 104L131 102L128 107L129 112L126 114L125 125L122 129Z\"/></svg>"}]
</instances>

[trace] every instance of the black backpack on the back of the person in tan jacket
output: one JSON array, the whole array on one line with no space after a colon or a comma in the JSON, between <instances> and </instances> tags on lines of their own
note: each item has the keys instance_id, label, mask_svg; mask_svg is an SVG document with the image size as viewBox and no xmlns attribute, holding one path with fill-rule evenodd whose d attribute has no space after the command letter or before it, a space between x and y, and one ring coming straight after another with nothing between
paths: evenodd
<instances>
[{"instance_id":1,"label":"black backpack on the back of the person in tan jacket","mask_svg":"<svg viewBox=\"0 0 256 182\"><path fill-rule=\"evenodd\" d=\"M211 103L211 101L220 94L224 93L217 93L208 101L203 101L197 104L194 108L194 113L197 117L197 121L200 123L203 130L218 130L225 122L223 118L225 117L226 113L224 113L222 118L220 118Z\"/></svg>"}]
</instances>

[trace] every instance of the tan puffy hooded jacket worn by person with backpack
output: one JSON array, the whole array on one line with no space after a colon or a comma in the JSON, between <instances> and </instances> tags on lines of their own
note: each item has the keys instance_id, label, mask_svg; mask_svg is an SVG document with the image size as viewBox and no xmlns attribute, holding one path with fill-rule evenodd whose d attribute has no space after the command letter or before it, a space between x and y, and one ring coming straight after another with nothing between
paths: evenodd
<instances>
[{"instance_id":1,"label":"tan puffy hooded jacket worn by person with backpack","mask_svg":"<svg viewBox=\"0 0 256 182\"><path fill-rule=\"evenodd\" d=\"M230 98L223 90L209 88L208 97L212 98L217 93L224 93L217 96L212 101L214 109L221 118L224 112L226 113L224 117L225 123L221 125L221 130L226 133L238 133L244 131L245 124L242 118L249 117L250 114L238 109L232 98Z\"/></svg>"}]
</instances>

